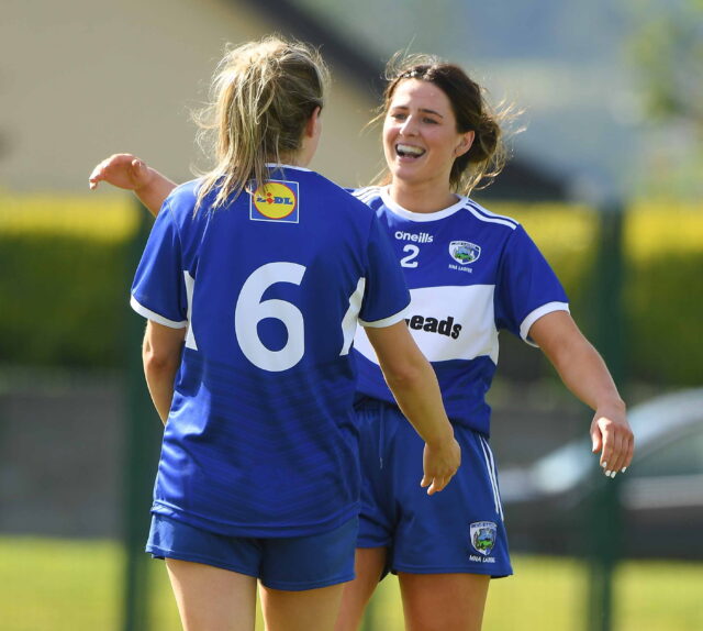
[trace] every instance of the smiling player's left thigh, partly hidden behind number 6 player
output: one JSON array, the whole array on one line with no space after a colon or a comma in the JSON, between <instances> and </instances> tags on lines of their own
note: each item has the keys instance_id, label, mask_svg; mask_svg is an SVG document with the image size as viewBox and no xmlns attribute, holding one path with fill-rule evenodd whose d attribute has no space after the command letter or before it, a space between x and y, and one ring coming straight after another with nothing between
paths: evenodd
<instances>
[{"instance_id":1,"label":"smiling player's left thigh, partly hidden behind number 6 player","mask_svg":"<svg viewBox=\"0 0 703 631\"><path fill-rule=\"evenodd\" d=\"M345 584L335 631L356 631L386 569L386 547L357 547L354 580Z\"/></svg>"}]
</instances>

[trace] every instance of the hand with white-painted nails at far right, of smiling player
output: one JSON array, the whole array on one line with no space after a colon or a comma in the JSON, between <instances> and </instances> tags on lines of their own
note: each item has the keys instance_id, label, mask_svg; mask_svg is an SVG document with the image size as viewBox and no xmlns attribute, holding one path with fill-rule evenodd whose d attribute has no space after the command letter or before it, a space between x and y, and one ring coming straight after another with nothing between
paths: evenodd
<instances>
[{"instance_id":1,"label":"hand with white-painted nails at far right, of smiling player","mask_svg":"<svg viewBox=\"0 0 703 631\"><path fill-rule=\"evenodd\" d=\"M625 473L633 460L635 438L624 408L595 410L591 440L593 453L601 452L600 464L606 476L614 478L617 473Z\"/></svg>"}]
</instances>

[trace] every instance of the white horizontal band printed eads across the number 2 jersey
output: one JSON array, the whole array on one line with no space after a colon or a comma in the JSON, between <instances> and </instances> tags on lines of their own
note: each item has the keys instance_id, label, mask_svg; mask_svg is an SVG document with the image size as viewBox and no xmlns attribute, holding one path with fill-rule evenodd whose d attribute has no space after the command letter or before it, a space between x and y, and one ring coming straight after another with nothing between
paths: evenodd
<instances>
[{"instance_id":1,"label":"white horizontal band printed eads across the number 2 jersey","mask_svg":"<svg viewBox=\"0 0 703 631\"><path fill-rule=\"evenodd\" d=\"M492 285L411 289L405 318L411 320L410 332L425 357L431 362L444 362L489 356L498 364L493 291ZM424 319L423 329L412 328L414 316ZM431 323L429 319L434 322ZM437 330L438 324L442 331ZM460 326L458 331L456 325ZM432 328L435 331L428 330ZM455 332L456 336L453 336ZM357 331L354 346L378 364L371 343L361 329Z\"/></svg>"}]
</instances>

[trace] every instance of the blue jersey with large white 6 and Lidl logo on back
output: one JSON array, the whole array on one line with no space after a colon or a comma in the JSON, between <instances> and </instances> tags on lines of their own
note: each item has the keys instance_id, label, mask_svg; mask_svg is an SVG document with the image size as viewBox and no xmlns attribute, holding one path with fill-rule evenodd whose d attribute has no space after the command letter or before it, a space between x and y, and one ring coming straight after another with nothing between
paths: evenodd
<instances>
[{"instance_id":1,"label":"blue jersey with large white 6 and Lidl logo on back","mask_svg":"<svg viewBox=\"0 0 703 631\"><path fill-rule=\"evenodd\" d=\"M298 536L358 512L350 347L410 296L376 214L302 168L193 212L176 188L154 224L132 306L187 328L153 511L235 536Z\"/></svg>"}]
</instances>

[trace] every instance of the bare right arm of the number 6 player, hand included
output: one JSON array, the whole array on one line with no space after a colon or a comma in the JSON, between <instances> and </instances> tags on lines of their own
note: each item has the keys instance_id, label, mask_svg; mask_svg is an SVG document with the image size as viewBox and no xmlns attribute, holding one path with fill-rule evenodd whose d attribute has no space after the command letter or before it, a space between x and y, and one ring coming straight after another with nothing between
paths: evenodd
<instances>
[{"instance_id":1,"label":"bare right arm of the number 6 player, hand included","mask_svg":"<svg viewBox=\"0 0 703 631\"><path fill-rule=\"evenodd\" d=\"M435 372L404 321L379 329L367 326L366 334L398 406L425 441L421 486L433 495L449 484L461 463Z\"/></svg>"}]
</instances>

